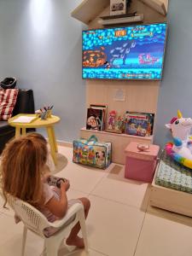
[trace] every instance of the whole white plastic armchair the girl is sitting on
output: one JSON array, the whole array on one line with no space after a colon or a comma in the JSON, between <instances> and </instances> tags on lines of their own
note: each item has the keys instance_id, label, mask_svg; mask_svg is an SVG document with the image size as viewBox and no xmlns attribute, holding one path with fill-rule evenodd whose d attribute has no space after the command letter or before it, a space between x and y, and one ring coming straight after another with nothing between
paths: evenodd
<instances>
[{"instance_id":1,"label":"whole white plastic armchair the girl is sitting on","mask_svg":"<svg viewBox=\"0 0 192 256\"><path fill-rule=\"evenodd\" d=\"M44 214L39 212L35 207L11 195L8 196L8 203L24 224L21 256L24 256L25 253L27 230L31 230L36 235L44 238L44 255L56 256L61 241L64 237L68 236L70 230L72 230L73 226L78 222L80 223L82 236L84 238L84 248L88 251L84 207L81 203L75 203L67 210L67 214L64 218L56 220L54 223L50 223L47 218L44 217ZM67 224L67 221L73 217L72 222ZM59 228L61 230L57 231L52 236L46 237L44 236L44 229L48 227Z\"/></svg>"}]
</instances>

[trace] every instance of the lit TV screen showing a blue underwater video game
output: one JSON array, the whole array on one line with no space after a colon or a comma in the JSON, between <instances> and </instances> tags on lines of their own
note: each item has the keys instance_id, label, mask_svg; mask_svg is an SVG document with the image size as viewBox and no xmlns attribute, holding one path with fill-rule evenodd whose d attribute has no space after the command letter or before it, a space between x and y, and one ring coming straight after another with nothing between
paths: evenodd
<instances>
[{"instance_id":1,"label":"lit TV screen showing a blue underwater video game","mask_svg":"<svg viewBox=\"0 0 192 256\"><path fill-rule=\"evenodd\" d=\"M166 23L83 31L83 79L162 79Z\"/></svg>"}]
</instances>

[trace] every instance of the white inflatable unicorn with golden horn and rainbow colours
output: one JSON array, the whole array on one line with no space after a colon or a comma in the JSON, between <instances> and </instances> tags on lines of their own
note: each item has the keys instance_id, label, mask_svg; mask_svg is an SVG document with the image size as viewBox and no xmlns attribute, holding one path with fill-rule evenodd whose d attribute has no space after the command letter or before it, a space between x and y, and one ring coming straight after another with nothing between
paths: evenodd
<instances>
[{"instance_id":1,"label":"white inflatable unicorn with golden horn and rainbow colours","mask_svg":"<svg viewBox=\"0 0 192 256\"><path fill-rule=\"evenodd\" d=\"M166 127L171 130L173 137L172 143L166 143L166 154L183 166L192 169L192 136L190 134L192 119L183 118L178 110L177 117L173 117Z\"/></svg>"}]
</instances>

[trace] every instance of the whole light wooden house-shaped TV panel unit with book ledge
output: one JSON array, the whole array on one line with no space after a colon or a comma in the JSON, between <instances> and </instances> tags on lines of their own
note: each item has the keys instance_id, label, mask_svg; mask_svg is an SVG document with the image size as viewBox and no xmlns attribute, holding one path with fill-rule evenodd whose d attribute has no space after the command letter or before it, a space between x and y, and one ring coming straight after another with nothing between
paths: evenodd
<instances>
[{"instance_id":1,"label":"whole light wooden house-shaped TV panel unit with book ledge","mask_svg":"<svg viewBox=\"0 0 192 256\"><path fill-rule=\"evenodd\" d=\"M166 1L168 3L168 0L150 1L160 1L162 3ZM109 5L110 0L84 0L73 10L72 16L88 25L89 29L102 28L103 26L98 23L99 16L109 15ZM143 23L145 24L166 21L165 16L139 0L132 0L129 11L137 11L137 13L143 14ZM104 104L108 106L108 113L114 109L118 115L124 114L127 110L156 113L159 88L160 81L87 80L86 106ZM124 91L124 101L115 100L114 95L117 90ZM119 164L125 164L125 148L128 143L136 141L137 143L151 144L154 139L154 137L137 137L106 131L90 131L85 128L80 129L80 137L89 138L92 134L96 135L101 142L112 143L112 160L114 163Z\"/></svg>"}]
</instances>

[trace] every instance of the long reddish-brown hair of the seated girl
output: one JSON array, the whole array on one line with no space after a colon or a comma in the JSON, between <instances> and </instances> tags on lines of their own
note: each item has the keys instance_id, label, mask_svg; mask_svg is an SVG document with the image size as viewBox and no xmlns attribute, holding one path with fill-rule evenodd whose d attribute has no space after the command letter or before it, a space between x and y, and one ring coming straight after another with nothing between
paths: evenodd
<instances>
[{"instance_id":1,"label":"long reddish-brown hair of the seated girl","mask_svg":"<svg viewBox=\"0 0 192 256\"><path fill-rule=\"evenodd\" d=\"M42 174L47 161L47 142L38 133L10 141L2 154L2 189L33 206L42 205Z\"/></svg>"}]
</instances>

